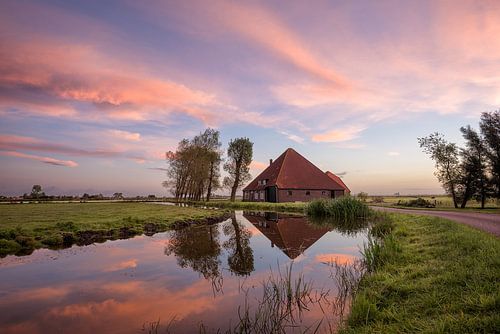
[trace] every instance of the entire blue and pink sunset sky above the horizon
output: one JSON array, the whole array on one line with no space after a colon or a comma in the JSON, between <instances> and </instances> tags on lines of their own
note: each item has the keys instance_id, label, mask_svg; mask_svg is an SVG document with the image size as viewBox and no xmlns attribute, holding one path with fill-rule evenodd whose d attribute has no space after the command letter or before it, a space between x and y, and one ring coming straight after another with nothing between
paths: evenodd
<instances>
[{"instance_id":1,"label":"entire blue and pink sunset sky above the horizon","mask_svg":"<svg viewBox=\"0 0 500 334\"><path fill-rule=\"evenodd\" d=\"M500 106L500 1L0 2L0 194L167 195L207 127L352 192L438 194L417 138Z\"/></svg>"}]
</instances>

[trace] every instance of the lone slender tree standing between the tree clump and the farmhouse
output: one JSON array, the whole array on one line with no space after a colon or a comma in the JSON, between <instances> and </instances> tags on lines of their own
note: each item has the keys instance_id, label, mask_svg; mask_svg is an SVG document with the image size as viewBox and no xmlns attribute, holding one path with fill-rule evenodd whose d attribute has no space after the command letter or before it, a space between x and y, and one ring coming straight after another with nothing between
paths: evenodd
<instances>
[{"instance_id":1,"label":"lone slender tree standing between the tree clump and the farmhouse","mask_svg":"<svg viewBox=\"0 0 500 334\"><path fill-rule=\"evenodd\" d=\"M224 178L224 185L231 187L231 201L236 198L236 191L252 177L249 173L253 156L253 143L248 138L231 140L227 149L227 161L224 170L229 176Z\"/></svg>"}]
</instances>

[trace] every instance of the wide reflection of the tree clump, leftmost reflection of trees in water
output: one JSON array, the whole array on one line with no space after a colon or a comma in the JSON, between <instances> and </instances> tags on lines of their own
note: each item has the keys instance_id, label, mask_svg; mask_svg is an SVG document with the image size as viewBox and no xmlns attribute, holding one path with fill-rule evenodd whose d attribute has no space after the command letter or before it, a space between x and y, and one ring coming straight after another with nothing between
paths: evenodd
<instances>
[{"instance_id":1,"label":"wide reflection of the tree clump, leftmost reflection of trees in water","mask_svg":"<svg viewBox=\"0 0 500 334\"><path fill-rule=\"evenodd\" d=\"M175 254L177 264L191 267L205 277L215 281L222 277L219 270L219 229L217 225L184 228L172 232L165 255Z\"/></svg>"}]
</instances>

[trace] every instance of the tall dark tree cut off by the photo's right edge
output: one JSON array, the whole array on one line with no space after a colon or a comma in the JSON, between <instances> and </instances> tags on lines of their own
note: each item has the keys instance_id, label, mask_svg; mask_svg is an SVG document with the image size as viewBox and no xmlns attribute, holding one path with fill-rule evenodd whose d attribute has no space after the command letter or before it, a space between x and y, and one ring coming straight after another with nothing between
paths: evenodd
<instances>
[{"instance_id":1,"label":"tall dark tree cut off by the photo's right edge","mask_svg":"<svg viewBox=\"0 0 500 334\"><path fill-rule=\"evenodd\" d=\"M483 113L479 122L488 157L494 197L500 199L500 110Z\"/></svg>"}]
</instances>

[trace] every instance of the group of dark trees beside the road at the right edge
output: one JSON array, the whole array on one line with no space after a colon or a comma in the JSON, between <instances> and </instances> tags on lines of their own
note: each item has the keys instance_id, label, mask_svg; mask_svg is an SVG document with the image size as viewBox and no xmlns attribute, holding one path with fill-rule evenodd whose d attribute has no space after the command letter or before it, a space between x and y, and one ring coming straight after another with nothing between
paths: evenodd
<instances>
[{"instance_id":1,"label":"group of dark trees beside the road at the right edge","mask_svg":"<svg viewBox=\"0 0 500 334\"><path fill-rule=\"evenodd\" d=\"M435 175L455 208L475 199L481 208L489 198L500 199L500 110L482 113L479 131L461 127L465 147L447 141L438 132L418 138L436 166Z\"/></svg>"}]
</instances>

